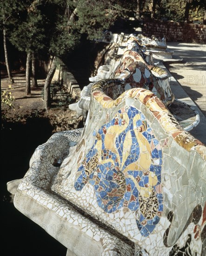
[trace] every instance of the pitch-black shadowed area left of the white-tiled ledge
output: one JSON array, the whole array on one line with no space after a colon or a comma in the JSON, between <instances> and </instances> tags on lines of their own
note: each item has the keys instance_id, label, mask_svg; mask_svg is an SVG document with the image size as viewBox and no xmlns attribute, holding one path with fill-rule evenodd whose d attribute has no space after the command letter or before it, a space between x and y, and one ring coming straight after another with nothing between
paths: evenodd
<instances>
[{"instance_id":1,"label":"pitch-black shadowed area left of the white-tiled ledge","mask_svg":"<svg viewBox=\"0 0 206 256\"><path fill-rule=\"evenodd\" d=\"M20 213L10 202L7 182L22 178L35 148L52 135L47 119L6 123L1 129L1 213L2 256L66 256L66 247L39 225Z\"/></svg>"}]
</instances>

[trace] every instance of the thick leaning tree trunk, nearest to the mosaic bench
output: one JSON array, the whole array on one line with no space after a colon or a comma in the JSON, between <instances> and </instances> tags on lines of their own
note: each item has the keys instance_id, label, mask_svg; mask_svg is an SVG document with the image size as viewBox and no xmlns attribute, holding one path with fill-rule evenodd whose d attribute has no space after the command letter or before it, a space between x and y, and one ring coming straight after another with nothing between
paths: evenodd
<instances>
[{"instance_id":1,"label":"thick leaning tree trunk, nearest to the mosaic bench","mask_svg":"<svg viewBox=\"0 0 206 256\"><path fill-rule=\"evenodd\" d=\"M51 67L47 74L47 78L44 84L44 109L48 110L51 105L51 95L50 95L50 84L56 69L55 59L53 58Z\"/></svg>"}]
</instances>

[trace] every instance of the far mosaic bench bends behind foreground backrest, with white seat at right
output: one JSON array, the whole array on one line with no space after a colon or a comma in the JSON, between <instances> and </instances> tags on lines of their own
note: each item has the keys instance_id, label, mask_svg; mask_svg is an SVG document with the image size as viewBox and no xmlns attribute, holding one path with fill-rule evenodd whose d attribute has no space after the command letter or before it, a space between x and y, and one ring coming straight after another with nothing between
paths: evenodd
<instances>
[{"instance_id":1,"label":"far mosaic bench bends behind foreground backrest, with white seat at right","mask_svg":"<svg viewBox=\"0 0 206 256\"><path fill-rule=\"evenodd\" d=\"M83 88L80 101L69 105L69 108L77 113L75 115L76 118L83 115L85 120L86 111L89 110L93 82L101 79L120 78L124 83L115 86L110 85L106 88L105 93L108 96L115 99L130 88L151 90L172 113L175 113L175 118L186 131L192 130L199 124L199 113L186 103L174 99L167 71L161 67L154 66L152 55L146 55L141 50L139 40L142 35L138 36L115 34L113 38L115 43L107 53L106 64L100 66L96 76L89 79L92 83ZM116 47L118 51L116 51L115 55L113 51ZM119 51L120 49L121 51ZM182 111L179 111L178 108Z\"/></svg>"}]
</instances>

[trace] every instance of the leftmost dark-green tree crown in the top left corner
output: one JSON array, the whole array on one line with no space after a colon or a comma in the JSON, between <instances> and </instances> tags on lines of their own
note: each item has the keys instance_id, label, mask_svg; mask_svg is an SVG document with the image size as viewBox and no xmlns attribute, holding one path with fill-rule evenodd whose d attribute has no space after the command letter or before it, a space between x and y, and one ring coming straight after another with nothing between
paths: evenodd
<instances>
[{"instance_id":1,"label":"leftmost dark-green tree crown in the top left corner","mask_svg":"<svg viewBox=\"0 0 206 256\"><path fill-rule=\"evenodd\" d=\"M47 21L40 11L42 1L4 0L7 2L6 27L9 40L20 51L38 53L45 47Z\"/></svg>"}]
</instances>

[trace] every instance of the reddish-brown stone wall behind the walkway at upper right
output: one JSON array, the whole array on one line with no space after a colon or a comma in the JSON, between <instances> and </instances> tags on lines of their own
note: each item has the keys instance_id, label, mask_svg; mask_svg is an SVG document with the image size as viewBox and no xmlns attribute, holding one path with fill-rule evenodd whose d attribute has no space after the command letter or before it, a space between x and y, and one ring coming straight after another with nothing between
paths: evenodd
<instances>
[{"instance_id":1,"label":"reddish-brown stone wall behind the walkway at upper right","mask_svg":"<svg viewBox=\"0 0 206 256\"><path fill-rule=\"evenodd\" d=\"M206 42L206 25L187 24L182 22L144 20L142 34L161 38L165 35L167 41Z\"/></svg>"}]
</instances>

